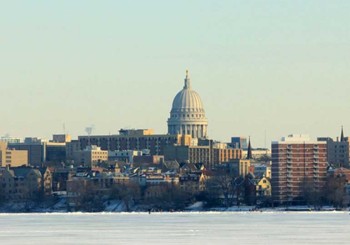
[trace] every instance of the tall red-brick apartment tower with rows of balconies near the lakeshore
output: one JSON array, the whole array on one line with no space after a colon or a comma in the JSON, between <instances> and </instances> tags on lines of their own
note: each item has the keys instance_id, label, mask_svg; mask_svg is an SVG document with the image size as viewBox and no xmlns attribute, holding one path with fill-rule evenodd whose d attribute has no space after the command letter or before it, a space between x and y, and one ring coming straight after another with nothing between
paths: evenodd
<instances>
[{"instance_id":1,"label":"tall red-brick apartment tower with rows of balconies near the lakeshore","mask_svg":"<svg viewBox=\"0 0 350 245\"><path fill-rule=\"evenodd\" d=\"M272 195L276 203L303 198L305 188L319 192L327 175L326 142L289 135L272 142Z\"/></svg>"}]
</instances>

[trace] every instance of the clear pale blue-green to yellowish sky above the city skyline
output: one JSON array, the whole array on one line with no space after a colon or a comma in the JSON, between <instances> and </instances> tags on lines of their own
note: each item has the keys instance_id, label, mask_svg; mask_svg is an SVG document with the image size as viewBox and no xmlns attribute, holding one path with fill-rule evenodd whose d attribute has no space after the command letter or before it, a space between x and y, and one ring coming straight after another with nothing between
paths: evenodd
<instances>
[{"instance_id":1,"label":"clear pale blue-green to yellowish sky above the city skyline","mask_svg":"<svg viewBox=\"0 0 350 245\"><path fill-rule=\"evenodd\" d=\"M0 135L167 133L189 69L209 137L350 135L348 0L0 1Z\"/></svg>"}]
</instances>

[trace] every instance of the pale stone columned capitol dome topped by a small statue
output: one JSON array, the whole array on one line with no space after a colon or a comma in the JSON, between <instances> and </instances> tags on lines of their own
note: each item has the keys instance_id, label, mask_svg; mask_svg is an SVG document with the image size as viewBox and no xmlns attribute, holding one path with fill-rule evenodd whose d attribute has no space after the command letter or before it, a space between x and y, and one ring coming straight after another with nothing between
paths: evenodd
<instances>
[{"instance_id":1,"label":"pale stone columned capitol dome topped by a small statue","mask_svg":"<svg viewBox=\"0 0 350 245\"><path fill-rule=\"evenodd\" d=\"M191 80L186 71L183 89L173 100L168 119L168 134L191 135L193 138L207 138L208 120L205 117L202 100L192 90Z\"/></svg>"}]
</instances>

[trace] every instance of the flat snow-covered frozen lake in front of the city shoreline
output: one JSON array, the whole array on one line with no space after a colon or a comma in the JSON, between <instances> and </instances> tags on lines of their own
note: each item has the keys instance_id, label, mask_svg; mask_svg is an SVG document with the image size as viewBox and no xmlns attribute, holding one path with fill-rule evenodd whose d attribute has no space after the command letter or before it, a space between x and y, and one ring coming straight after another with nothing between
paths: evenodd
<instances>
[{"instance_id":1,"label":"flat snow-covered frozen lake in front of the city shoreline","mask_svg":"<svg viewBox=\"0 0 350 245\"><path fill-rule=\"evenodd\" d=\"M2 244L349 244L349 212L0 214Z\"/></svg>"}]
</instances>

